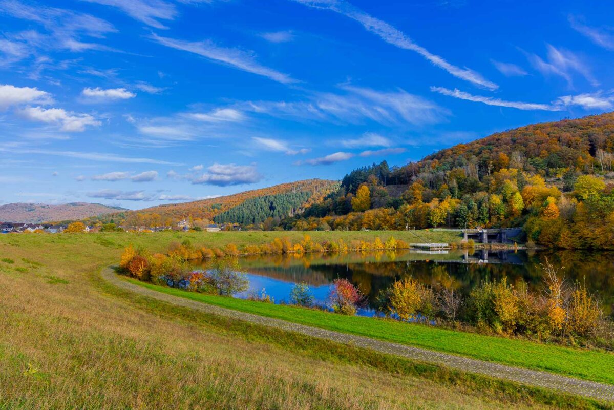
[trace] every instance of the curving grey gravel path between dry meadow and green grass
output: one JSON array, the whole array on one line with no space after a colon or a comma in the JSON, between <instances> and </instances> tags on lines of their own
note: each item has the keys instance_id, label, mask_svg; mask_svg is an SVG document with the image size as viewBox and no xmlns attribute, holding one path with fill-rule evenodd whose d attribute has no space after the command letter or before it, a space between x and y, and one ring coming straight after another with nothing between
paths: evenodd
<instances>
[{"instance_id":1,"label":"curving grey gravel path between dry meadow and green grass","mask_svg":"<svg viewBox=\"0 0 614 410\"><path fill-rule=\"evenodd\" d=\"M449 368L468 371L470 373L484 374L486 376L497 377L498 379L511 380L513 382L519 382L525 385L560 390L562 392L587 396L597 400L614 401L614 385L590 382L588 380L572 379L571 377L559 376L557 374L547 373L545 371L499 365L488 361L449 355L447 353L419 349L408 345L379 341L377 339L371 339L370 337L355 336L352 334L300 325L298 323L292 323L285 320L239 312L238 310L225 309L223 307L213 306L203 302L196 302L190 299L180 298L171 294L161 293L155 290L143 288L142 286L134 285L133 283L122 280L110 267L103 269L102 276L105 280L119 288L142 294L144 296L149 296L150 298L169 302L178 306L200 310L201 312L205 313L212 313L214 315L233 318L236 320L249 321L251 323L257 323L258 325L270 326L272 328L305 334L307 336L319 337L320 339L326 339L328 341L376 350L378 352L397 355L400 357L409 358L411 360L448 366Z\"/></svg>"}]
</instances>

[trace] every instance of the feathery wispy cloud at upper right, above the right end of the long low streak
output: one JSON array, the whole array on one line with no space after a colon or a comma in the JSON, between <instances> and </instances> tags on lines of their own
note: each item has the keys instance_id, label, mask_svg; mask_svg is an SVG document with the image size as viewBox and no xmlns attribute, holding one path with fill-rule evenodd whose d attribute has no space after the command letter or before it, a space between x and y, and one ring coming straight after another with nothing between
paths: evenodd
<instances>
[{"instance_id":1,"label":"feathery wispy cloud at upper right, above the right end of the long low streak","mask_svg":"<svg viewBox=\"0 0 614 410\"><path fill-rule=\"evenodd\" d=\"M578 55L569 50L557 49L550 44L546 44L546 49L548 50L546 60L543 60L536 54L526 54L531 65L542 73L543 76L548 77L554 75L562 77L567 84L572 87L573 73L578 73L591 85L599 85L599 82L595 79L591 70Z\"/></svg>"}]
</instances>

